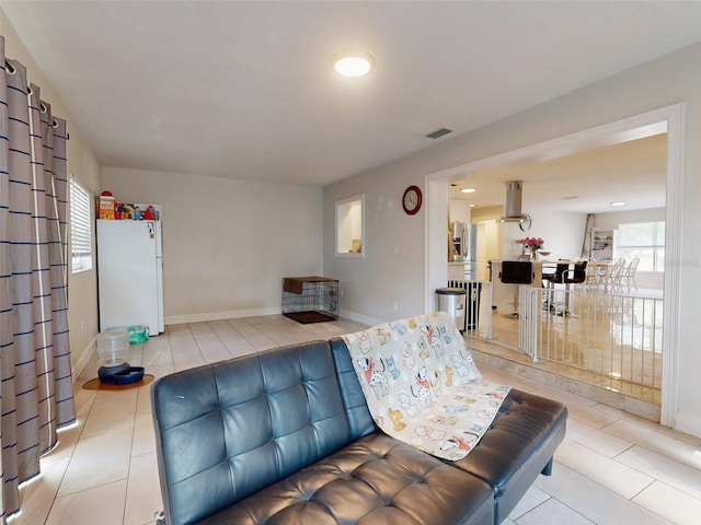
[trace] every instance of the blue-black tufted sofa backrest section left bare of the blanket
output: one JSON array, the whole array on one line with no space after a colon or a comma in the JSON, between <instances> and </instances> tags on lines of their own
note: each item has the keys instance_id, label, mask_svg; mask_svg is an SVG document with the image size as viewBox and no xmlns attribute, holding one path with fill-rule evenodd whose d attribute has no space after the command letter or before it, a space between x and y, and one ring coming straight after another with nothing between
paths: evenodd
<instances>
[{"instance_id":1,"label":"blue-black tufted sofa backrest section left bare of the blanket","mask_svg":"<svg viewBox=\"0 0 701 525\"><path fill-rule=\"evenodd\" d=\"M161 377L151 400L169 525L211 515L354 441L326 341Z\"/></svg>"}]
</instances>

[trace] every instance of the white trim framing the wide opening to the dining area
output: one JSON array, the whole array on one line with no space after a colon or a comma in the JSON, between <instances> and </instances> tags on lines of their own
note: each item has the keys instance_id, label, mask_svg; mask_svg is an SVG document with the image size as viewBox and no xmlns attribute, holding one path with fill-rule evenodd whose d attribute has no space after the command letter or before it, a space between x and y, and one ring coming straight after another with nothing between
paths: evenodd
<instances>
[{"instance_id":1,"label":"white trim framing the wide opening to the dining area","mask_svg":"<svg viewBox=\"0 0 701 525\"><path fill-rule=\"evenodd\" d=\"M663 332L663 384L660 424L675 427L678 407L679 363L679 311L681 229L683 217L682 192L686 167L686 106L683 103L654 109L641 115L597 126L558 139L520 148L487 159L470 162L426 175L427 213L425 215L426 276L424 282L426 312L434 308L433 291L445 287L447 264L445 247L446 217L448 215L450 182L464 178L466 173L494 166L504 166L529 161L556 159L578 151L601 148L650 137L667 131L667 197L665 226L665 283L664 283L664 332Z\"/></svg>"}]
</instances>

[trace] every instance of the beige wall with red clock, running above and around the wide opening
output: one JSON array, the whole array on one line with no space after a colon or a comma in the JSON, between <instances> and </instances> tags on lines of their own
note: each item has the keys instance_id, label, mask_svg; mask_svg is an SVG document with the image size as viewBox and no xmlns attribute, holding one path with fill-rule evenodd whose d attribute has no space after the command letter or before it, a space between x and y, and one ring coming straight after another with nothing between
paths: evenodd
<instances>
[{"instance_id":1,"label":"beige wall with red clock, running above and around the wide opening","mask_svg":"<svg viewBox=\"0 0 701 525\"><path fill-rule=\"evenodd\" d=\"M345 307L379 319L424 310L428 284L434 282L434 276L425 271L429 255L424 253L426 209L414 217L403 214L399 198L407 185L426 188L429 174L685 102L689 145L682 161L683 252L680 260L667 260L679 268L683 282L679 324L670 327L677 334L679 355L673 419L680 430L701 435L701 405L697 402L701 384L694 372L701 370L701 352L696 351L696 341L701 338L701 324L696 319L701 296L701 243L696 241L701 207L693 201L701 195L701 149L693 145L701 143L699 85L701 45L696 45L324 188L325 224L333 219L334 199L365 192L369 202L370 249L366 259L353 261L353 267L334 259L333 240L324 232L324 269L354 290ZM372 228L380 224L382 228ZM394 247L399 255L394 255ZM392 300L398 296L403 301L394 311Z\"/></svg>"}]
</instances>

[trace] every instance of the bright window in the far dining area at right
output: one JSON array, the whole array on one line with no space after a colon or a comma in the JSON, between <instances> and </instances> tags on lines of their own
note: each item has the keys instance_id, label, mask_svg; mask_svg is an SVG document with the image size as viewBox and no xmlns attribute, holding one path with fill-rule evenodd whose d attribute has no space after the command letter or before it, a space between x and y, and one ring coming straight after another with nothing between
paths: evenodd
<instances>
[{"instance_id":1,"label":"bright window in the far dining area at right","mask_svg":"<svg viewBox=\"0 0 701 525\"><path fill-rule=\"evenodd\" d=\"M614 257L640 259L639 271L665 271L665 222L619 224Z\"/></svg>"}]
</instances>

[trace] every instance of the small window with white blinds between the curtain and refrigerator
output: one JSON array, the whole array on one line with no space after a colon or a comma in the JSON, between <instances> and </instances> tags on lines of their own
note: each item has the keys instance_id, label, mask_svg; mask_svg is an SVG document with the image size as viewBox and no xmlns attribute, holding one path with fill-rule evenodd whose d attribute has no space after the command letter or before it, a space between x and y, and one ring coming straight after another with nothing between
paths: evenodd
<instances>
[{"instance_id":1,"label":"small window with white blinds between the curtain and refrigerator","mask_svg":"<svg viewBox=\"0 0 701 525\"><path fill-rule=\"evenodd\" d=\"M78 182L70 177L70 247L72 272L92 270L92 197Z\"/></svg>"}]
</instances>

